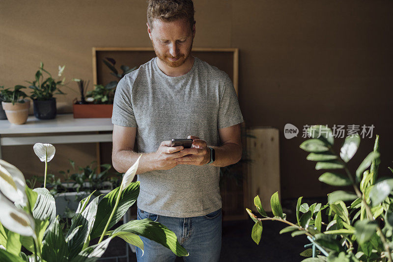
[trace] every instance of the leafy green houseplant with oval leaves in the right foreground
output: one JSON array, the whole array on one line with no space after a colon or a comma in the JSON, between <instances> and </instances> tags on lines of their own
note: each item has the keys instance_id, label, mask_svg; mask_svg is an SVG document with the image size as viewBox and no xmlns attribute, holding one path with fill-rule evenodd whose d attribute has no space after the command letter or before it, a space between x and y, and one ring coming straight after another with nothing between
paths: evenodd
<instances>
[{"instance_id":1,"label":"leafy green houseplant with oval leaves in the right foreground","mask_svg":"<svg viewBox=\"0 0 393 262\"><path fill-rule=\"evenodd\" d=\"M376 136L374 150L365 157L353 175L347 162L359 147L358 134L348 136L340 153L336 154L330 129L312 126L308 133L310 139L300 145L300 148L309 152L307 159L317 161L317 170L334 170L323 173L319 181L334 186L352 186L354 192L334 191L328 194L328 203L324 206L321 203L310 206L302 204L300 197L296 206L296 222L293 223L287 221L282 213L277 192L270 200L274 217L267 215L259 196L256 196L254 205L263 218L257 218L247 209L255 222L253 240L256 243L260 241L262 221L276 220L289 225L280 234L292 232L292 236L307 235L327 255L308 258L304 262L392 262L393 179L377 180L380 164L379 136ZM393 172L392 168L389 169ZM323 210L326 215L322 213Z\"/></svg>"}]
</instances>

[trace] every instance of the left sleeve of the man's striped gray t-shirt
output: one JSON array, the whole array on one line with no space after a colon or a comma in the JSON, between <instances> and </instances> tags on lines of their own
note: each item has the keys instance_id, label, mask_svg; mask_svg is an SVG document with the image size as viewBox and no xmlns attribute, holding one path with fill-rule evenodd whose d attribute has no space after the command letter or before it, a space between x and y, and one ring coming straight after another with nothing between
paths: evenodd
<instances>
[{"instance_id":1,"label":"left sleeve of the man's striped gray t-shirt","mask_svg":"<svg viewBox=\"0 0 393 262\"><path fill-rule=\"evenodd\" d=\"M132 83L123 77L117 84L113 99L112 124L123 127L137 127L131 97Z\"/></svg>"}]
</instances>

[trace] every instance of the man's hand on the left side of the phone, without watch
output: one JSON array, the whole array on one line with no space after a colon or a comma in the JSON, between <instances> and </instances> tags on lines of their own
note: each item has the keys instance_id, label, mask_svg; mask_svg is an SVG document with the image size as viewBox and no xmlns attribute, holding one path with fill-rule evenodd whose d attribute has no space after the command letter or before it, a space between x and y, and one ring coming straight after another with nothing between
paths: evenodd
<instances>
[{"instance_id":1,"label":"man's hand on the left side of the phone, without watch","mask_svg":"<svg viewBox=\"0 0 393 262\"><path fill-rule=\"evenodd\" d=\"M155 161L154 169L168 170L177 166L175 158L183 157L185 155L184 153L179 152L183 148L183 146L170 147L170 141L163 141L153 156Z\"/></svg>"}]
</instances>

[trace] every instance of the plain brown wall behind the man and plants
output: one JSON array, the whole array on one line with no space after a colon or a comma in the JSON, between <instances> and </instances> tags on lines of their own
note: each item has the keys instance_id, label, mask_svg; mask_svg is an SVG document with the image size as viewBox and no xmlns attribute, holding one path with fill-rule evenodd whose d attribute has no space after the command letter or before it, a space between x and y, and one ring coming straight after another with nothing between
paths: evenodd
<instances>
[{"instance_id":1,"label":"plain brown wall behind the man and plants","mask_svg":"<svg viewBox=\"0 0 393 262\"><path fill-rule=\"evenodd\" d=\"M373 124L388 174L393 160L392 8L389 0L195 0L194 46L239 48L245 121L249 127L280 130L283 198L330 190L318 183L321 172L299 149L301 135L283 137L286 123L300 131L307 124ZM91 47L150 45L145 9L144 0L1 1L0 84L11 87L32 79L40 61L53 74L65 64L67 80L92 80ZM57 97L60 112L71 112L77 97L76 84L69 86L66 96ZM372 142L362 141L352 168L371 151ZM95 157L93 146L89 153L78 146L62 148L78 159ZM4 148L5 159L10 152ZM110 161L108 154L104 158ZM29 161L15 164L29 170ZM32 161L37 161L33 155ZM66 162L59 167L67 167Z\"/></svg>"}]
</instances>

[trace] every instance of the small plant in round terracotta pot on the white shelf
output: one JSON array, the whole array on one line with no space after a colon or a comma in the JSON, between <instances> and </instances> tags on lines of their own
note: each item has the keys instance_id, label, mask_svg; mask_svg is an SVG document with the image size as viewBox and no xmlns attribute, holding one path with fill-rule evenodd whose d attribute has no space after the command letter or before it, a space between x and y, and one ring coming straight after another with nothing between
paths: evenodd
<instances>
[{"instance_id":1,"label":"small plant in round terracotta pot on the white shelf","mask_svg":"<svg viewBox=\"0 0 393 262\"><path fill-rule=\"evenodd\" d=\"M0 88L0 94L2 96L1 105L8 121L15 125L25 124L28 120L30 100L25 99L28 95L21 91L21 89L26 87L15 85L14 90L4 88L4 86L0 86Z\"/></svg>"}]
</instances>

